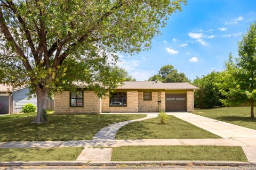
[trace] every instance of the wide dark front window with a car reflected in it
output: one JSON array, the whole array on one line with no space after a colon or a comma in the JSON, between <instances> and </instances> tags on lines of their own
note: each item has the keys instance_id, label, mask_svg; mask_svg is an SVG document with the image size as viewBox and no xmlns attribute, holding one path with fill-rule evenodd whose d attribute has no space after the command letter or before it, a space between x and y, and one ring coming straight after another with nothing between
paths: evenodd
<instances>
[{"instance_id":1,"label":"wide dark front window with a car reflected in it","mask_svg":"<svg viewBox=\"0 0 256 170\"><path fill-rule=\"evenodd\" d=\"M126 92L113 92L109 96L109 106L127 106Z\"/></svg>"}]
</instances>

